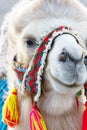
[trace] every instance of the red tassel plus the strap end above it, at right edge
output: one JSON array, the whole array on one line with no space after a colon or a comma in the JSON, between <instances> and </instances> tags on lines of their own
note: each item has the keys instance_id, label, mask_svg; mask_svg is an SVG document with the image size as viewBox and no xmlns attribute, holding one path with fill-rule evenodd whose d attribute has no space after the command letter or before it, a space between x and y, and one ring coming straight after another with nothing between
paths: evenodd
<instances>
[{"instance_id":1,"label":"red tassel plus the strap end above it, at right edge","mask_svg":"<svg viewBox=\"0 0 87 130\"><path fill-rule=\"evenodd\" d=\"M87 83L85 84L85 96L87 100ZM87 130L87 101L85 103L85 110L83 113L82 130Z\"/></svg>"}]
</instances>

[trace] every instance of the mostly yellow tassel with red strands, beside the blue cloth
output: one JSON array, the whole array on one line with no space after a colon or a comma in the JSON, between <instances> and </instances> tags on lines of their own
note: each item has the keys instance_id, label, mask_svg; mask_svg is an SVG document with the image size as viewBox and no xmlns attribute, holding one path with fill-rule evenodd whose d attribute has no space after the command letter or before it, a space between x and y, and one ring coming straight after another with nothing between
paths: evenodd
<instances>
[{"instance_id":1,"label":"mostly yellow tassel with red strands, beside the blue cloth","mask_svg":"<svg viewBox=\"0 0 87 130\"><path fill-rule=\"evenodd\" d=\"M11 94L5 101L2 118L3 121L11 127L19 124L18 97L16 88L11 91Z\"/></svg>"}]
</instances>

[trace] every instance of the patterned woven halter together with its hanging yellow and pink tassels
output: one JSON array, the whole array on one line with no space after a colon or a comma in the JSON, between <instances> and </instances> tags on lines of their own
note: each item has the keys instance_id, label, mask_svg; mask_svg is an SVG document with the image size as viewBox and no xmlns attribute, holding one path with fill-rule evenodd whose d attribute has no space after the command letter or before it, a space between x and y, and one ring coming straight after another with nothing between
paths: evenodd
<instances>
[{"instance_id":1,"label":"patterned woven halter together with its hanging yellow and pink tassels","mask_svg":"<svg viewBox=\"0 0 87 130\"><path fill-rule=\"evenodd\" d=\"M32 98L33 105L32 105L32 111L30 113L31 130L37 130L37 129L47 130L46 124L44 123L44 120L40 114L40 111L38 110L36 106L36 102L39 100L41 96L41 80L42 80L44 67L46 65L46 59L47 59L48 53L49 51L51 51L52 45L55 44L54 40L58 36L63 35L63 34L72 35L76 39L77 43L80 46L82 46L83 50L85 51L80 37L77 34L75 34L71 28L68 28L66 26L59 26L58 28L50 32L44 38L44 40L39 44L29 65L20 64L17 61L13 61L13 69L16 72L20 86L22 87L23 91L27 91L31 95L31 98ZM13 89L9 97L10 102L12 103L13 101L12 101L11 96L13 95L15 96L15 98L17 97L16 88ZM10 106L8 107L8 104L9 104L8 102L9 100L7 99L3 108L3 113L4 113L3 120L8 125L14 127L15 125L19 124L19 121L20 121L19 112L16 112L16 114L13 114L14 110L12 111L12 109L10 109ZM16 108L15 108L16 111L17 111L17 108L18 108L18 105L16 103Z\"/></svg>"}]
</instances>

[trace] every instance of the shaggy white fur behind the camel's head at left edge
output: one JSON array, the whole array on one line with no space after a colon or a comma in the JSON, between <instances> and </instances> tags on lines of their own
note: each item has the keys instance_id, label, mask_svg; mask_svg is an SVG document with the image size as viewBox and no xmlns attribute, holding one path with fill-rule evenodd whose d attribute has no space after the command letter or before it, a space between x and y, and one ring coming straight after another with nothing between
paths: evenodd
<instances>
[{"instance_id":1,"label":"shaggy white fur behind the camel's head at left edge","mask_svg":"<svg viewBox=\"0 0 87 130\"><path fill-rule=\"evenodd\" d=\"M6 55L7 55L7 32L8 32L8 17L7 15L0 28L0 78L6 74Z\"/></svg>"}]
</instances>

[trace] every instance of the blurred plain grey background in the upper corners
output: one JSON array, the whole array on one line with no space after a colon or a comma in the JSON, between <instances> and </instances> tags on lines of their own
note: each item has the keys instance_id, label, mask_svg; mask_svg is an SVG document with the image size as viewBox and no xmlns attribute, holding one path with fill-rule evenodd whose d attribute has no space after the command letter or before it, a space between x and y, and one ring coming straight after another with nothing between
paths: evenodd
<instances>
[{"instance_id":1,"label":"blurred plain grey background in the upper corners","mask_svg":"<svg viewBox=\"0 0 87 130\"><path fill-rule=\"evenodd\" d=\"M5 14L10 11L11 7L17 2L18 0L0 0L0 26L4 19ZM87 0L80 0L84 1L87 5Z\"/></svg>"}]
</instances>

